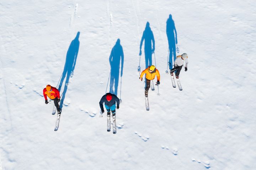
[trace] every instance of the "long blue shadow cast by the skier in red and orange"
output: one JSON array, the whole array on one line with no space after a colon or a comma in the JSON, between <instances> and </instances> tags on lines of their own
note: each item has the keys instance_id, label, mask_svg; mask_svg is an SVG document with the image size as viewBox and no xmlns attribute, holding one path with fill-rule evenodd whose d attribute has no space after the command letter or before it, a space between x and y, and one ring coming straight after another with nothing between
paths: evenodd
<instances>
[{"instance_id":1,"label":"long blue shadow cast by the skier in red and orange","mask_svg":"<svg viewBox=\"0 0 256 170\"><path fill-rule=\"evenodd\" d=\"M75 69L75 65L76 65L76 59L78 56L78 51L79 51L79 35L80 32L78 32L76 34L76 37L74 40L71 41L69 48L68 48L68 52L66 54L66 62L65 62L65 66L63 69L63 73L62 73L62 78L60 79L60 84L59 84L59 91L63 86L63 81L66 77L66 81L64 84L64 91L62 94L62 98L60 100L60 108L62 108L63 106L63 101L65 99L65 95L66 95L66 91L68 90L68 83L69 83L69 78L73 77L74 75L74 69Z\"/></svg>"}]
</instances>

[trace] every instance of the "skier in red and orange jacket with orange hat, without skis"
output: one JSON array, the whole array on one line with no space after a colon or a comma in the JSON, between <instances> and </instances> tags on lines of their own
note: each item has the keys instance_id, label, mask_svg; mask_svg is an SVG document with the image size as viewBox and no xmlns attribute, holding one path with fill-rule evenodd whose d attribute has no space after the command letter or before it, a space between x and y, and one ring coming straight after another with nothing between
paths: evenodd
<instances>
[{"instance_id":1,"label":"skier in red and orange jacket with orange hat, without skis","mask_svg":"<svg viewBox=\"0 0 256 170\"><path fill-rule=\"evenodd\" d=\"M52 87L51 85L47 85L46 88L43 89L43 95L45 99L45 103L48 104L47 96L54 101L54 105L57 108L58 114L61 113L59 102L60 102L60 95L59 90L55 87Z\"/></svg>"}]
</instances>

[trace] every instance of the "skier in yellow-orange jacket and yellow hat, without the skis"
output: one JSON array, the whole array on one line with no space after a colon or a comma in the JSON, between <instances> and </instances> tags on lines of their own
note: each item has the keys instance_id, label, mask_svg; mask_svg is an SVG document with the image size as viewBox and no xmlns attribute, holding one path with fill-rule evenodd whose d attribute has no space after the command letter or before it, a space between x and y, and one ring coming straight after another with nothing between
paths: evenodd
<instances>
[{"instance_id":1,"label":"skier in yellow-orange jacket and yellow hat, without the skis","mask_svg":"<svg viewBox=\"0 0 256 170\"><path fill-rule=\"evenodd\" d=\"M156 78L157 78L156 84L159 85L160 84L160 74L159 74L158 69L156 69L154 65L149 66L148 68L143 70L143 72L140 74L140 78L139 78L141 81L142 81L142 77L143 77L144 74L146 74L145 96L148 97L148 90L149 90L149 87L150 87L150 81L153 80L156 76Z\"/></svg>"}]
</instances>

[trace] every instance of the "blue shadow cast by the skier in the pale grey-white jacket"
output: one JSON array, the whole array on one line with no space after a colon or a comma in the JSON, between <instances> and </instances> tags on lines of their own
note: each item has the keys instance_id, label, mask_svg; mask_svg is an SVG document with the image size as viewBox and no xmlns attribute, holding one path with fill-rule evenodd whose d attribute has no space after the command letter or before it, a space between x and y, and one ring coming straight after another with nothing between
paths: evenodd
<instances>
[{"instance_id":1,"label":"blue shadow cast by the skier in the pale grey-white jacket","mask_svg":"<svg viewBox=\"0 0 256 170\"><path fill-rule=\"evenodd\" d=\"M171 14L166 21L166 35L169 44L169 69L172 69L174 61L176 60L176 45L178 43L178 40L177 31Z\"/></svg>"}]
</instances>

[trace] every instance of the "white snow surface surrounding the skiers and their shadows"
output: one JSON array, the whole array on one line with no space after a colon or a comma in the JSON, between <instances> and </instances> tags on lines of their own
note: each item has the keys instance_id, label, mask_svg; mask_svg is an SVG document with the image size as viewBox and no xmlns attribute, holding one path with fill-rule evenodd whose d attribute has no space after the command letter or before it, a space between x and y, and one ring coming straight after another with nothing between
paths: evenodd
<instances>
[{"instance_id":1,"label":"white snow surface surrounding the skiers and their shadows","mask_svg":"<svg viewBox=\"0 0 256 170\"><path fill-rule=\"evenodd\" d=\"M255 8L253 0L2 0L0 170L255 169ZM188 54L182 91L165 73L170 14L179 55ZM149 90L150 111L137 71L146 22L161 74L161 95L156 86ZM57 86L78 32L74 75L54 131L57 115L42 91ZM109 91L117 39L124 67L113 134L98 102ZM142 70L143 50L144 43Z\"/></svg>"}]
</instances>

